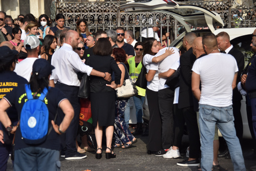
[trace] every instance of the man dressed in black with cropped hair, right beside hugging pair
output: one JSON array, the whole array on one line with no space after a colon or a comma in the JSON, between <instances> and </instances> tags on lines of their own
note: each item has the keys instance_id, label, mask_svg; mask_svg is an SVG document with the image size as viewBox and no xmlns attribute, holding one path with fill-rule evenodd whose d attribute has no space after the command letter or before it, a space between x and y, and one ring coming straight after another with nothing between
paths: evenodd
<instances>
[{"instance_id":1,"label":"man dressed in black with cropped hair, right beside hugging pair","mask_svg":"<svg viewBox=\"0 0 256 171\"><path fill-rule=\"evenodd\" d=\"M180 91L178 108L184 115L188 138L189 138L189 158L178 162L179 166L198 166L200 151L200 137L197 125L197 113L193 107L193 94L191 90L191 69L196 60L193 54L193 41L197 35L193 32L186 33L183 38L183 47L187 51L180 57Z\"/></svg>"}]
</instances>

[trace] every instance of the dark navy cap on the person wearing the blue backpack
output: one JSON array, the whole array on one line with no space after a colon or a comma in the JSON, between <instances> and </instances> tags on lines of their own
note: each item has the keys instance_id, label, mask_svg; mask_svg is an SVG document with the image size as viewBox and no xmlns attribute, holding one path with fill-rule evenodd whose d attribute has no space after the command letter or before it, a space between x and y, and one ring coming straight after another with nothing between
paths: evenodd
<instances>
[{"instance_id":1,"label":"dark navy cap on the person wearing the blue backpack","mask_svg":"<svg viewBox=\"0 0 256 171\"><path fill-rule=\"evenodd\" d=\"M47 77L55 69L46 59L36 59L33 64L32 73L38 75L38 78Z\"/></svg>"}]
</instances>

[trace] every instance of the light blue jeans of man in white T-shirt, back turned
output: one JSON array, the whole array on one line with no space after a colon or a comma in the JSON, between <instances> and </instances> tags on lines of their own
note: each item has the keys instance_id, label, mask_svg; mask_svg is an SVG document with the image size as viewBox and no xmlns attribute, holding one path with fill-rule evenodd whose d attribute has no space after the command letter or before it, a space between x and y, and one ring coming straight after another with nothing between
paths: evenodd
<instances>
[{"instance_id":1,"label":"light blue jeans of man in white T-shirt, back turned","mask_svg":"<svg viewBox=\"0 0 256 171\"><path fill-rule=\"evenodd\" d=\"M201 132L201 168L211 170L214 160L213 142L215 124L217 124L223 138L226 140L234 170L246 170L239 139L234 129L232 105L216 107L199 104L199 125Z\"/></svg>"}]
</instances>

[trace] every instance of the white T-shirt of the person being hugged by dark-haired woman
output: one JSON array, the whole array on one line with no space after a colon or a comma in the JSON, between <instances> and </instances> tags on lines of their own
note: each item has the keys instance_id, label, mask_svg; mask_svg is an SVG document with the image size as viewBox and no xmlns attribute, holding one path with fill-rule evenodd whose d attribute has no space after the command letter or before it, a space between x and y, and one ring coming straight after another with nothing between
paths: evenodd
<instances>
[{"instance_id":1,"label":"white T-shirt of the person being hugged by dark-haired woman","mask_svg":"<svg viewBox=\"0 0 256 171\"><path fill-rule=\"evenodd\" d=\"M159 62L158 73L164 73L164 72L168 71L169 69L177 70L179 68L179 66L180 66L179 50L177 48L174 48L174 47L172 47L172 48L174 49L174 54L167 56L161 62ZM164 54L166 49L168 49L168 48L161 49L157 53L157 55L160 56L160 55ZM169 87L167 85L164 85L164 83L166 82L166 79L167 78L160 78L159 79L159 88L158 88L158 90L162 90L162 89L165 89L165 88Z\"/></svg>"}]
</instances>

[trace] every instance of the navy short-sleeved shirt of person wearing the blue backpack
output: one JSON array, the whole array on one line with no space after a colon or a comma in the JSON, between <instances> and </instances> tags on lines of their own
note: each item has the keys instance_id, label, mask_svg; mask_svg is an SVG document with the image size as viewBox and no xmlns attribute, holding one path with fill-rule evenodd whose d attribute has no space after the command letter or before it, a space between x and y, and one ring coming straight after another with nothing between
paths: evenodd
<instances>
[{"instance_id":1,"label":"navy short-sleeved shirt of person wearing the blue backpack","mask_svg":"<svg viewBox=\"0 0 256 171\"><path fill-rule=\"evenodd\" d=\"M40 94L37 94L37 96L39 97ZM23 84L19 86L17 89L14 89L11 93L7 94L4 98L9 102L9 104L16 107L18 116L20 117L20 113L22 111L25 100L27 100L25 85ZM45 98L45 103L49 110L49 128L52 127L51 120L55 119L59 103L64 99L67 99L66 95L63 94L60 90L56 88L51 88L48 91L48 94L46 95L46 98ZM26 148L30 146L32 145L26 144L22 139L22 133L20 132L20 127L18 127L15 134L14 149L16 150L16 149ZM42 148L59 150L60 149L59 135L52 128L50 134L47 136L46 141L36 146L42 147Z\"/></svg>"}]
</instances>

